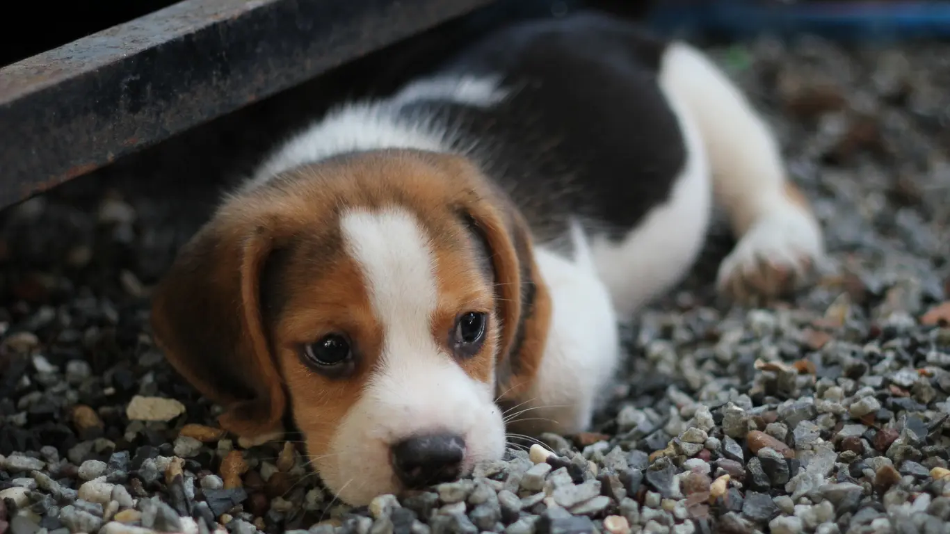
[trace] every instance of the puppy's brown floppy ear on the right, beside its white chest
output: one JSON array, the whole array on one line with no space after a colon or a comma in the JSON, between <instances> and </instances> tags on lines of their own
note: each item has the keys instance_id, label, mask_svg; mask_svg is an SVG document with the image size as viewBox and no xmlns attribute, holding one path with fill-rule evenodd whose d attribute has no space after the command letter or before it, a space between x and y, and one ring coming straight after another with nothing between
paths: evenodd
<instances>
[{"instance_id":1,"label":"puppy's brown floppy ear on the right, beside its white chest","mask_svg":"<svg viewBox=\"0 0 950 534\"><path fill-rule=\"evenodd\" d=\"M502 322L496 363L499 400L518 398L541 368L551 322L551 299L535 261L531 232L504 199L479 202L467 217L491 255L495 300Z\"/></svg>"}]
</instances>

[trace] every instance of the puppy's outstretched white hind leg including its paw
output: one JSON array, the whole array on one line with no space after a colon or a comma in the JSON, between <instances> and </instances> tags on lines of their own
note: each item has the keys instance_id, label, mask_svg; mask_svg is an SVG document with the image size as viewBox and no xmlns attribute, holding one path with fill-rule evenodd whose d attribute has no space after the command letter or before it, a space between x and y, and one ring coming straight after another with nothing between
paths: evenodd
<instances>
[{"instance_id":1,"label":"puppy's outstretched white hind leg including its paw","mask_svg":"<svg viewBox=\"0 0 950 534\"><path fill-rule=\"evenodd\" d=\"M719 291L749 301L794 289L821 262L824 239L805 196L786 178L768 124L724 72L688 45L667 50L660 84L699 127L714 198L738 241L719 267Z\"/></svg>"}]
</instances>

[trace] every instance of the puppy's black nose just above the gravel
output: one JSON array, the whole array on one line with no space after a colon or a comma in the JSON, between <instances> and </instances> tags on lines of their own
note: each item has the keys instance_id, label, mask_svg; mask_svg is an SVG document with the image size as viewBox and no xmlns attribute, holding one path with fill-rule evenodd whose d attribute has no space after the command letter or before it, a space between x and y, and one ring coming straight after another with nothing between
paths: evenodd
<instances>
[{"instance_id":1,"label":"puppy's black nose just above the gravel","mask_svg":"<svg viewBox=\"0 0 950 534\"><path fill-rule=\"evenodd\" d=\"M454 434L414 436L391 447L392 467L409 488L419 488L459 478L466 442Z\"/></svg>"}]
</instances>

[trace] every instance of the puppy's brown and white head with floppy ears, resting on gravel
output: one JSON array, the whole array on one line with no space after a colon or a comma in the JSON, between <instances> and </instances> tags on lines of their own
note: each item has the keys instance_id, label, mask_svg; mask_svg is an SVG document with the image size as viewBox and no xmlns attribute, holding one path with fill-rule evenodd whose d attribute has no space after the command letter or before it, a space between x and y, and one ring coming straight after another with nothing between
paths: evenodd
<instances>
[{"instance_id":1,"label":"puppy's brown and white head with floppy ears, resting on gravel","mask_svg":"<svg viewBox=\"0 0 950 534\"><path fill-rule=\"evenodd\" d=\"M523 222L466 160L335 158L224 202L154 294L173 366L256 438L289 407L353 505L504 453L550 315Z\"/></svg>"}]
</instances>

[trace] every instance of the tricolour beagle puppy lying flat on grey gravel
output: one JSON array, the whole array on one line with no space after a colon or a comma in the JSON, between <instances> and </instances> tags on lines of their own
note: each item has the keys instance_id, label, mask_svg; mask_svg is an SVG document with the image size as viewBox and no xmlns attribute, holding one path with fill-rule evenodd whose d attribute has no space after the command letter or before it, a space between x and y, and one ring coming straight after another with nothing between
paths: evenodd
<instances>
[{"instance_id":1,"label":"tricolour beagle puppy lying flat on grey gravel","mask_svg":"<svg viewBox=\"0 0 950 534\"><path fill-rule=\"evenodd\" d=\"M597 13L521 23L297 133L153 294L157 344L224 429L290 414L345 502L453 480L506 431L588 427L618 321L690 270L780 296L823 256L769 127L695 48Z\"/></svg>"}]
</instances>

